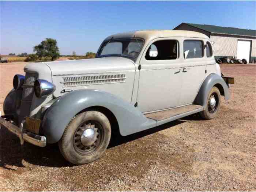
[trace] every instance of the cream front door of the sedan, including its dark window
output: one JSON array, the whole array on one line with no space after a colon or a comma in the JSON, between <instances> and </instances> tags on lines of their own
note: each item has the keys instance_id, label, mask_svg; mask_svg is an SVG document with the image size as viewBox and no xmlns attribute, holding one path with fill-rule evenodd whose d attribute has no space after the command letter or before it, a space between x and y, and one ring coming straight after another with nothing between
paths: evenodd
<instances>
[{"instance_id":1,"label":"cream front door of the sedan, including its dark window","mask_svg":"<svg viewBox=\"0 0 256 192\"><path fill-rule=\"evenodd\" d=\"M146 48L140 60L138 108L142 112L178 105L182 79L178 39L160 38Z\"/></svg>"}]
</instances>

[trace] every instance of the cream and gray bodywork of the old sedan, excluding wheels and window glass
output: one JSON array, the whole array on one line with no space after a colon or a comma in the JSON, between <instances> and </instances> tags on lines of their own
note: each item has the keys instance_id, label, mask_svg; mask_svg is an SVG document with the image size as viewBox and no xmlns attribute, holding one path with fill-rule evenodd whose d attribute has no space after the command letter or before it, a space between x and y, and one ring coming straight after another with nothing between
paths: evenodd
<instances>
[{"instance_id":1,"label":"cream and gray bodywork of the old sedan, excluding wheels and window glass","mask_svg":"<svg viewBox=\"0 0 256 192\"><path fill-rule=\"evenodd\" d=\"M120 39L132 39L133 46L138 43L135 56L101 55L109 42ZM152 44L168 40L175 42L174 59L147 59ZM202 57L187 58L184 42L191 40L202 42ZM7 123L11 120L20 127L26 117L41 120L38 134L27 131L22 138L23 130L10 129L21 140L45 146L58 142L69 121L86 109L108 113L123 136L203 111L212 87L229 98L228 83L221 77L210 42L206 35L193 31L133 31L107 37L95 59L27 64L22 89L12 90L5 99L4 113L10 116L0 123L11 127ZM194 48L195 55L197 52ZM47 97L36 97L33 86L37 79L54 84L56 90ZM166 112L163 118L161 112Z\"/></svg>"}]
</instances>

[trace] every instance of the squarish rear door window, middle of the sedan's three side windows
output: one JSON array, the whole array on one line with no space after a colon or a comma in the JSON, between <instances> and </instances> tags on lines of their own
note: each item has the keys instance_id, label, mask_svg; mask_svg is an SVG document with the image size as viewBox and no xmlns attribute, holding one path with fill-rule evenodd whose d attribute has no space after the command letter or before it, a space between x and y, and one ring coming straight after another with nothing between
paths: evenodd
<instances>
[{"instance_id":1,"label":"squarish rear door window, middle of the sedan's three side windows","mask_svg":"<svg viewBox=\"0 0 256 192\"><path fill-rule=\"evenodd\" d=\"M185 59L203 57L203 41L185 40L183 43L183 53Z\"/></svg>"}]
</instances>

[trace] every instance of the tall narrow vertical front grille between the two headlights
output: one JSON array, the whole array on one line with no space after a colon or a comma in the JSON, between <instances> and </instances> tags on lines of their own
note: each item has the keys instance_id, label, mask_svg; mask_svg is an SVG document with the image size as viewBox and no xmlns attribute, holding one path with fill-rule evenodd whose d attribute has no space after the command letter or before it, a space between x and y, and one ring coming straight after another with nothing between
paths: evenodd
<instances>
[{"instance_id":1,"label":"tall narrow vertical front grille between the two headlights","mask_svg":"<svg viewBox=\"0 0 256 192\"><path fill-rule=\"evenodd\" d=\"M37 79L37 74L27 73L25 81L23 84L22 99L20 105L20 117L19 123L23 120L24 117L29 117L31 102L34 95L34 82Z\"/></svg>"}]
</instances>

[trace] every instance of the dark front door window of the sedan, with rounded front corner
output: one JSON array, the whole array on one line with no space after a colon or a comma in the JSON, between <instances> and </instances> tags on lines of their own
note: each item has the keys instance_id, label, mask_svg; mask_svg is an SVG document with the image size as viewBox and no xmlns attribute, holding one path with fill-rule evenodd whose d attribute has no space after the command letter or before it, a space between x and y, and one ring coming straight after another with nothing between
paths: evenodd
<instances>
[{"instance_id":1,"label":"dark front door window of the sedan, with rounded front corner","mask_svg":"<svg viewBox=\"0 0 256 192\"><path fill-rule=\"evenodd\" d=\"M160 40L150 45L146 52L146 60L173 60L178 57L176 40Z\"/></svg>"}]
</instances>

